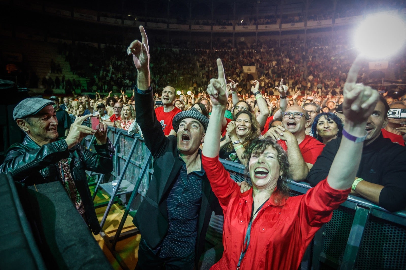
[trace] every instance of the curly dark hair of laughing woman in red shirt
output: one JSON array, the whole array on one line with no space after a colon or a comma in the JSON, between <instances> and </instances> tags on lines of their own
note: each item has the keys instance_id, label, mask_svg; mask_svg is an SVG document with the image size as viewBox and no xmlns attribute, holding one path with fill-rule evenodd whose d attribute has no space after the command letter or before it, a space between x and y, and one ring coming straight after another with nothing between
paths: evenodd
<instances>
[{"instance_id":1,"label":"curly dark hair of laughing woman in red shirt","mask_svg":"<svg viewBox=\"0 0 406 270\"><path fill-rule=\"evenodd\" d=\"M278 162L279 162L279 170L282 171L281 177L278 179L276 183L277 191L279 192L280 196L276 196L275 204L279 205L281 201L279 198L289 197L289 187L287 185L287 179L289 178L289 162L287 161L287 154L285 150L274 140L271 138L265 139L255 139L251 141L251 144L245 148L244 153L242 154L242 158L247 160L247 165L245 166L245 176L247 179L250 178L249 174L249 164L252 154L262 154L268 146L272 146L278 152Z\"/></svg>"}]
</instances>

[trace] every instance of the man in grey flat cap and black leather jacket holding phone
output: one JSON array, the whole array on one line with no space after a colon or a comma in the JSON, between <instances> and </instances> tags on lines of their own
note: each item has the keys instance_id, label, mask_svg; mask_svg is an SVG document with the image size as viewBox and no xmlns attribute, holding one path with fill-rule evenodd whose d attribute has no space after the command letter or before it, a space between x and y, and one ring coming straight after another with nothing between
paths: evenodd
<instances>
[{"instance_id":1,"label":"man in grey flat cap and black leather jacket holding phone","mask_svg":"<svg viewBox=\"0 0 406 270\"><path fill-rule=\"evenodd\" d=\"M66 139L58 139L58 121L54 101L41 98L24 99L14 108L13 118L26 133L21 144L7 150L0 172L11 173L14 180L31 186L60 181L86 224L100 231L85 170L106 174L112 171L114 147L107 138L107 126L96 130L82 126L91 115L77 117ZM87 135L95 135L95 152L79 144Z\"/></svg>"}]
</instances>

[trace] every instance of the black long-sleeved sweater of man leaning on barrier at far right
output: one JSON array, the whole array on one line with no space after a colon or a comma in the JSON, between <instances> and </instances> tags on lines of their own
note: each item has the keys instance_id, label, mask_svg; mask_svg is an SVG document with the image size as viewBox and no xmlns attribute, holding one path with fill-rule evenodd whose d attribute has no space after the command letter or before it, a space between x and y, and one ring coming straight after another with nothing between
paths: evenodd
<instances>
[{"instance_id":1,"label":"black long-sleeved sweater of man leaning on barrier at far right","mask_svg":"<svg viewBox=\"0 0 406 270\"><path fill-rule=\"evenodd\" d=\"M324 147L307 174L311 186L327 177L340 143L341 137L328 142ZM364 146L356 176L384 186L379 195L379 206L391 212L405 209L406 147L385 139L381 133L375 141Z\"/></svg>"}]
</instances>

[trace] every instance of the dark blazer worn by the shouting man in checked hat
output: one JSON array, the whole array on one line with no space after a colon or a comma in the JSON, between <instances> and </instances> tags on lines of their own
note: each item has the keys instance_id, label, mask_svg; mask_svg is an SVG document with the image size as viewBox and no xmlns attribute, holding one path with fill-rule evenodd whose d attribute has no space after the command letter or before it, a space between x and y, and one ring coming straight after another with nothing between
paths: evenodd
<instances>
[{"instance_id":1,"label":"dark blazer worn by the shouting man in checked hat","mask_svg":"<svg viewBox=\"0 0 406 270\"><path fill-rule=\"evenodd\" d=\"M147 148L153 156L153 176L145 199L133 219L141 235L151 248L162 242L169 228L166 198L178 178L182 167L177 152L175 136L165 137L156 119L152 91L147 94L135 92L137 122L144 135ZM197 223L196 258L203 252L204 240L212 211L222 215L222 209L214 195L207 177L202 180L202 201Z\"/></svg>"}]
</instances>

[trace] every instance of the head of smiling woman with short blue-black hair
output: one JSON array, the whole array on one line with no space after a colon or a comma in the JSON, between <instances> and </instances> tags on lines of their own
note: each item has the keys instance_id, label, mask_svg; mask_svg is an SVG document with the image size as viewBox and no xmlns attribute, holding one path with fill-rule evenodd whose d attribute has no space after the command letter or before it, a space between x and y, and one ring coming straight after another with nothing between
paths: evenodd
<instances>
[{"instance_id":1,"label":"head of smiling woman with short blue-black hair","mask_svg":"<svg viewBox=\"0 0 406 270\"><path fill-rule=\"evenodd\" d=\"M311 126L311 134L323 144L327 144L332 139L341 137L343 122L338 116L332 113L318 114Z\"/></svg>"}]
</instances>

